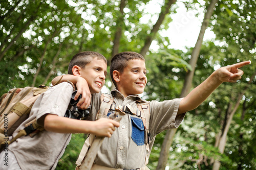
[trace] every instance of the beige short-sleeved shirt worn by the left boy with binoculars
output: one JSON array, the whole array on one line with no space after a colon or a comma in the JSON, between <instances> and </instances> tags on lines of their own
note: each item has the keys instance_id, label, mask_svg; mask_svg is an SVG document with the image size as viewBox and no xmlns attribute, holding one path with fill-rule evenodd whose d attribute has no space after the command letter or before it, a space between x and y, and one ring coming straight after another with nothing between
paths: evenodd
<instances>
[{"instance_id":1,"label":"beige short-sleeved shirt worn by the left boy with binoculars","mask_svg":"<svg viewBox=\"0 0 256 170\"><path fill-rule=\"evenodd\" d=\"M18 127L13 136L19 130L24 129L25 124L34 118L38 119L47 113L64 116L72 92L73 87L71 84L65 82L51 87L41 94L31 109L30 117ZM54 133L44 130L32 138L24 136L17 139L17 141L8 146L8 149L14 153L22 169L55 169L70 139L71 134Z\"/></svg>"}]
</instances>

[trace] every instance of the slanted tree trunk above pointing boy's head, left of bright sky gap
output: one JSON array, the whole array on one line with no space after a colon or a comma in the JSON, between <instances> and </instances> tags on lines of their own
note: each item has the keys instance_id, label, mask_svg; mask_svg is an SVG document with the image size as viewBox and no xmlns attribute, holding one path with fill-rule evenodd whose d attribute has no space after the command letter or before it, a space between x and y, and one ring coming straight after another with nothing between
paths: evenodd
<instances>
[{"instance_id":1,"label":"slanted tree trunk above pointing boy's head, left of bright sky gap","mask_svg":"<svg viewBox=\"0 0 256 170\"><path fill-rule=\"evenodd\" d=\"M150 45L151 45L153 39L155 38L156 33L157 33L158 30L159 30L159 27L160 27L161 24L163 23L163 20L164 20L165 16L170 13L170 12L169 12L170 6L172 6L174 3L176 3L176 0L166 0L166 1L165 1L165 5L162 7L162 11L161 11L161 13L159 14L159 17L158 17L157 22L156 22L155 25L153 26L153 29L151 30L150 35L148 35L148 36L145 38L144 46L141 48L141 51L140 51L140 54L141 54L142 56L145 57L146 52L147 52L148 49L150 48Z\"/></svg>"}]
</instances>

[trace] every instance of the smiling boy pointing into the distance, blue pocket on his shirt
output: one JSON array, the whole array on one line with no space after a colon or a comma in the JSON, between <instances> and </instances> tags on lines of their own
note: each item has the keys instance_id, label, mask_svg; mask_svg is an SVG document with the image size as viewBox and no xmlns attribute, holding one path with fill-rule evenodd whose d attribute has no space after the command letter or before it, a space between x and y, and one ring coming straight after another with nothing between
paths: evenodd
<instances>
[{"instance_id":1,"label":"smiling boy pointing into the distance, blue pocket on his shirt","mask_svg":"<svg viewBox=\"0 0 256 170\"><path fill-rule=\"evenodd\" d=\"M187 111L197 108L222 82L236 82L241 79L243 71L238 68L249 63L250 61L245 61L222 67L214 71L185 98L163 102L150 101L149 108L143 107L144 111L139 112L140 103L147 102L138 95L143 93L147 83L145 59L135 52L115 55L110 66L111 79L116 86L116 89L111 91L115 109L110 111L115 110L122 119L120 128L112 137L104 139L92 169L148 169L146 165L155 136L163 130L178 128ZM64 76L63 80L69 80L70 77ZM82 84L84 80L73 79L73 83L76 82ZM99 96L100 94L92 95L94 119L99 115L98 110L100 114L104 114L99 107L104 102L98 100ZM84 149L82 150L80 156L84 157ZM77 161L78 168L81 161Z\"/></svg>"}]
</instances>

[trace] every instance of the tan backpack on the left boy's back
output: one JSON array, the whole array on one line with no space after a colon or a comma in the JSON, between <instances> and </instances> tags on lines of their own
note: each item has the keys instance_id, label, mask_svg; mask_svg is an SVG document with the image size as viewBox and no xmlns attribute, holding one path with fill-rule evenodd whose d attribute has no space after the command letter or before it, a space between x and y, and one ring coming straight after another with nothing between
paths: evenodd
<instances>
[{"instance_id":1,"label":"tan backpack on the left boy's back","mask_svg":"<svg viewBox=\"0 0 256 170\"><path fill-rule=\"evenodd\" d=\"M62 78L62 77L61 77ZM60 78L60 80L61 80ZM59 84L60 80L53 86ZM68 81L69 82L69 81ZM69 82L73 86L73 83ZM0 151L8 147L8 144L17 138L30 135L33 137L38 132L44 130L44 127L37 124L36 119L31 120L20 130L16 136L9 140L13 132L28 117L32 106L38 97L47 91L50 87L40 85L39 87L13 88L0 98Z\"/></svg>"}]
</instances>

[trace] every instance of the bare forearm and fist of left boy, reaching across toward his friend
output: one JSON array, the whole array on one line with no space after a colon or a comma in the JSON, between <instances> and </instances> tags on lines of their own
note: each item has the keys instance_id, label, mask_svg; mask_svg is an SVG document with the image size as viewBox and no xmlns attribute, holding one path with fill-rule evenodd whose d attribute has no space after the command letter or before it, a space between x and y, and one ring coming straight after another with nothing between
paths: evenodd
<instances>
[{"instance_id":1,"label":"bare forearm and fist of left boy, reaching across toward his friend","mask_svg":"<svg viewBox=\"0 0 256 170\"><path fill-rule=\"evenodd\" d=\"M96 136L111 137L115 127L119 127L119 123L109 118L89 121L47 114L44 119L45 130L56 133L90 133Z\"/></svg>"}]
</instances>

